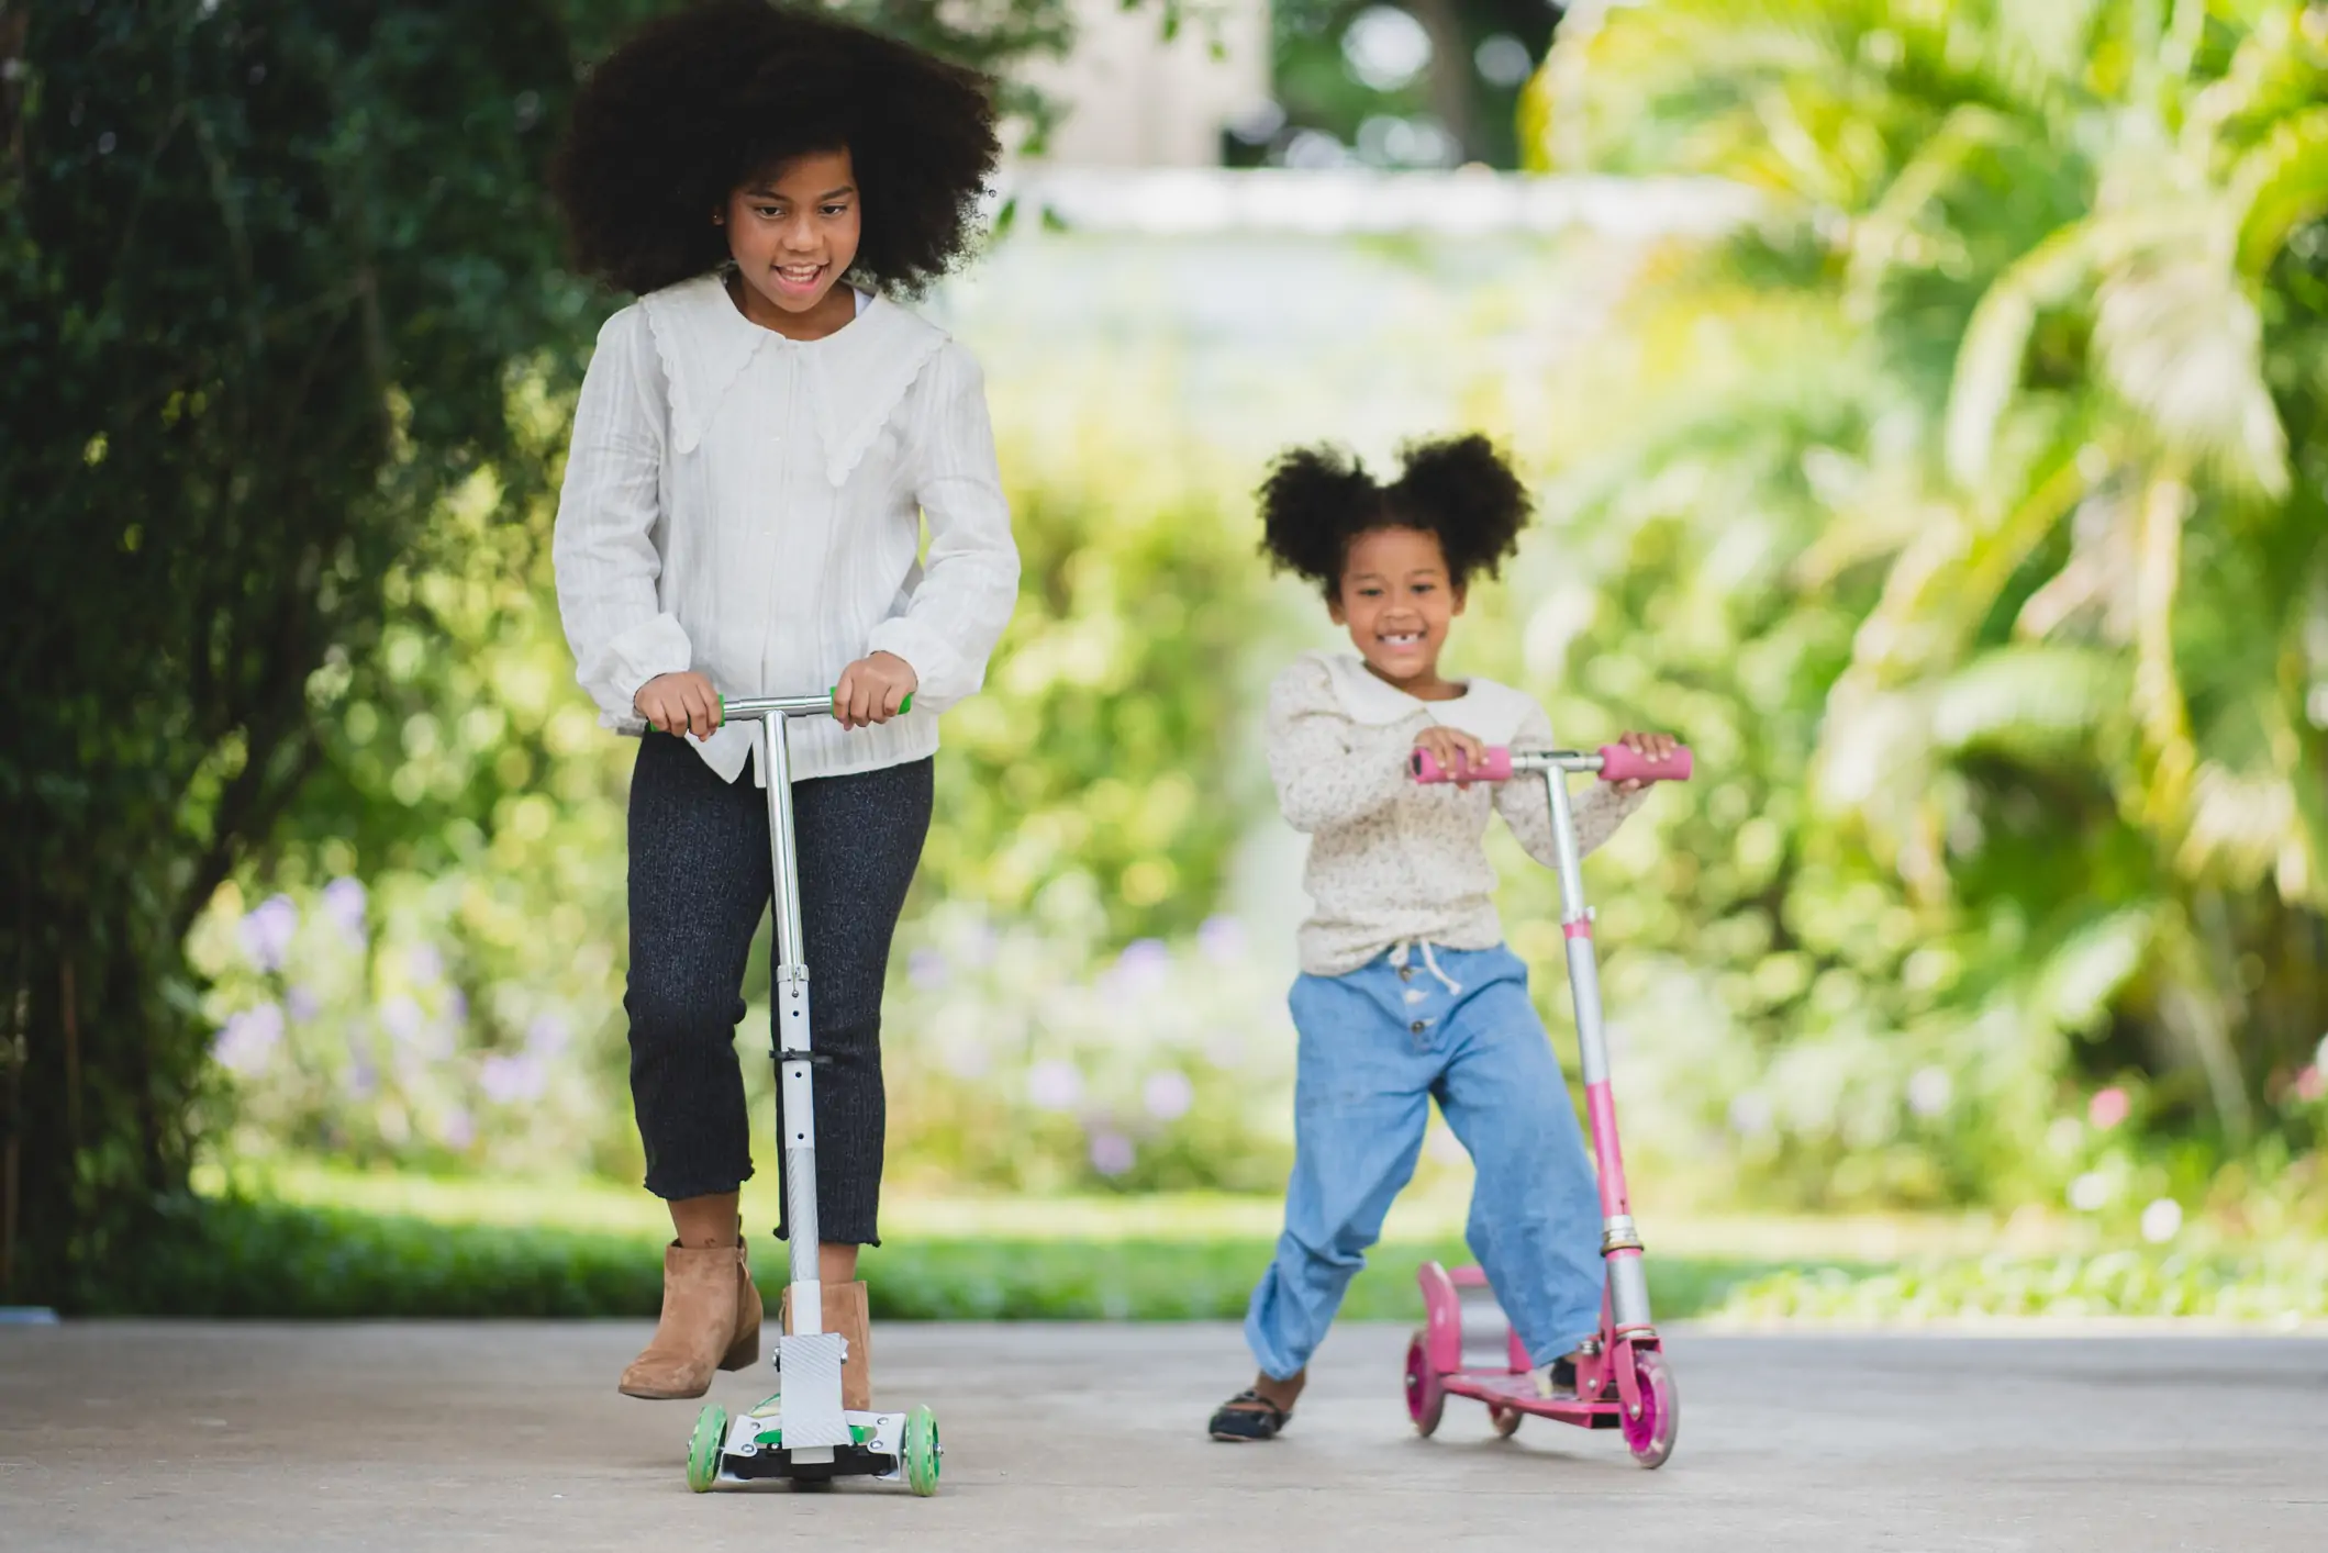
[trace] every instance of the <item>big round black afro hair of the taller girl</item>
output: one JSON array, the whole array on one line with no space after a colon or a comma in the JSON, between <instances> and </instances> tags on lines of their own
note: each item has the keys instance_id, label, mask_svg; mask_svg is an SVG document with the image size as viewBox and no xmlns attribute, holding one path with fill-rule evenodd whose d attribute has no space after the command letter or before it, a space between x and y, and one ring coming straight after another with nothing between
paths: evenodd
<instances>
[{"instance_id":1,"label":"big round black afro hair of the taller girl","mask_svg":"<svg viewBox=\"0 0 2328 1553\"><path fill-rule=\"evenodd\" d=\"M552 191L575 265L656 291L729 258L729 193L847 149L864 189L852 275L920 291L975 240L1001 156L975 70L812 9L708 0L638 30L575 98Z\"/></svg>"}]
</instances>

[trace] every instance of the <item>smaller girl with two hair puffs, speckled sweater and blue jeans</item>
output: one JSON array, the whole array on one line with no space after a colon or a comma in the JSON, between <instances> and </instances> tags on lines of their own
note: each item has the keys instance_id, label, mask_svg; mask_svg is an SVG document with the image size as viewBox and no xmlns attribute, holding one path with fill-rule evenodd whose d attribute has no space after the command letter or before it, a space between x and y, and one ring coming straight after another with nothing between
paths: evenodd
<instances>
[{"instance_id":1,"label":"smaller girl with two hair puffs, speckled sweater and blue jeans","mask_svg":"<svg viewBox=\"0 0 2328 1553\"><path fill-rule=\"evenodd\" d=\"M1574 1385L1599 1327L1599 1197L1560 1062L1527 999L1527 966L1495 913L1490 808L1553 864L1550 801L1534 782L1420 787L1415 750L1450 771L1490 745L1550 747L1527 694L1450 680L1439 659L1478 577L1527 524L1527 491L1485 438L1406 449L1381 484L1355 459L1297 449L1262 487L1262 547L1325 594L1353 652L1311 652L1269 687L1269 773L1308 831L1294 1171L1285 1234L1252 1290L1250 1390L1213 1413L1225 1441L1273 1439L1301 1395L1350 1276L1413 1176L1432 1099L1471 1153L1469 1241L1548 1395ZM1625 733L1665 759L1674 740ZM1639 782L1576 801L1597 848L1641 803Z\"/></svg>"}]
</instances>

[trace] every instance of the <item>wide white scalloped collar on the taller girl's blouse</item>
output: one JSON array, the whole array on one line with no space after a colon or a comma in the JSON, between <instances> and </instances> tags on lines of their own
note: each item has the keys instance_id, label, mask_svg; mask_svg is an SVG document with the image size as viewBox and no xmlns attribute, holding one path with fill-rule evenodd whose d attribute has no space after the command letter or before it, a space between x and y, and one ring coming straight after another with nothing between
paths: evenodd
<instances>
[{"instance_id":1,"label":"wide white scalloped collar on the taller girl's blouse","mask_svg":"<svg viewBox=\"0 0 2328 1553\"><path fill-rule=\"evenodd\" d=\"M743 317L719 272L650 291L640 303L670 384L670 438L677 452L703 445L736 380L759 352L796 352L808 373L810 414L824 442L824 477L845 484L901 398L945 347L945 331L871 298L845 328L822 340L787 340Z\"/></svg>"}]
</instances>

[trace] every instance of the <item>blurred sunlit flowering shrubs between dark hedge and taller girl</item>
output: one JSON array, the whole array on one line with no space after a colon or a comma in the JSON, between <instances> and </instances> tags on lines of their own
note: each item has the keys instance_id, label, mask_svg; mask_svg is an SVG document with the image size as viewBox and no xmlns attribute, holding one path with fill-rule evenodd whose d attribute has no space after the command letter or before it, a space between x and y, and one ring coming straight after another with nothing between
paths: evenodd
<instances>
[{"instance_id":1,"label":"blurred sunlit flowering shrubs between dark hedge and taller girl","mask_svg":"<svg viewBox=\"0 0 2328 1553\"><path fill-rule=\"evenodd\" d=\"M540 380L512 435L554 468ZM379 647L310 680L324 764L189 957L235 1076L226 1153L636 1173L624 1090L624 792L636 745L573 689L554 503L480 470L389 568ZM261 1078L263 1073L263 1078Z\"/></svg>"}]
</instances>

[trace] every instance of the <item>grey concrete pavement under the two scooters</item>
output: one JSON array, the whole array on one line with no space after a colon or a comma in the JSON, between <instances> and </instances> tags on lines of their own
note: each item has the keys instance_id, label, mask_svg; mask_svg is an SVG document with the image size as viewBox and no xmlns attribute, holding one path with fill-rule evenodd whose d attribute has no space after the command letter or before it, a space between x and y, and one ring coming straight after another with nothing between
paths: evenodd
<instances>
[{"instance_id":1,"label":"grey concrete pavement under the two scooters","mask_svg":"<svg viewBox=\"0 0 2328 1553\"><path fill-rule=\"evenodd\" d=\"M0 1327L0 1551L163 1548L2328 1548L2328 1341L1681 1329L1681 1446L1490 1437L1336 1329L1294 1425L1215 1446L1220 1325L889 1325L945 1488L696 1497L694 1404L612 1390L643 1325ZM766 1374L719 1376L750 1404Z\"/></svg>"}]
</instances>

